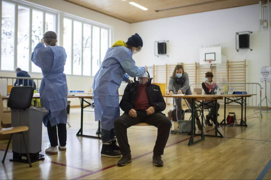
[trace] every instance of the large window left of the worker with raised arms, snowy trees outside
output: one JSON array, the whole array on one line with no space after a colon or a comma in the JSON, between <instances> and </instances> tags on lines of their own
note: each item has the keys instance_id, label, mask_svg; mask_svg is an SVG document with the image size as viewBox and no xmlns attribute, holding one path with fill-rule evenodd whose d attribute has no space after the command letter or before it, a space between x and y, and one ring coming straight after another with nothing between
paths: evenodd
<instances>
[{"instance_id":1,"label":"large window left of the worker with raised arms, snowy trees outside","mask_svg":"<svg viewBox=\"0 0 271 180\"><path fill-rule=\"evenodd\" d=\"M14 71L20 67L25 71L41 72L31 62L31 53L46 31L56 32L57 14L13 1L1 3L0 70Z\"/></svg>"}]
</instances>

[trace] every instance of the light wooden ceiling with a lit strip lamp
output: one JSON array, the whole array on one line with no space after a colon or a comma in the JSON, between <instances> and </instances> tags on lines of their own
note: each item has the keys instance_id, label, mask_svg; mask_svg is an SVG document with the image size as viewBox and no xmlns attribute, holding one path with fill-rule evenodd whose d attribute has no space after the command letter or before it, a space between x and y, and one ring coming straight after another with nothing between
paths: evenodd
<instances>
[{"instance_id":1,"label":"light wooden ceiling with a lit strip lamp","mask_svg":"<svg viewBox=\"0 0 271 180\"><path fill-rule=\"evenodd\" d=\"M79 6L134 23L185 14L201 13L251 4L259 0L65 0ZM141 10L129 2L140 4Z\"/></svg>"}]
</instances>

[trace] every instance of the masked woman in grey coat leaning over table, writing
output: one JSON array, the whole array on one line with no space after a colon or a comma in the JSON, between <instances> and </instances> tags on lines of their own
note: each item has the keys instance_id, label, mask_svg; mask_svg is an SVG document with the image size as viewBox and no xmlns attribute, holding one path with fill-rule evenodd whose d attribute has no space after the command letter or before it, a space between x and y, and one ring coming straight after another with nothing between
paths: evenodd
<instances>
[{"instance_id":1,"label":"masked woman in grey coat leaning over table, writing","mask_svg":"<svg viewBox=\"0 0 271 180\"><path fill-rule=\"evenodd\" d=\"M192 95L188 73L184 72L183 66L178 64L175 66L172 76L169 80L168 91L170 95L173 94L185 94ZM186 99L188 101L188 105L191 108L191 100ZM177 106L176 109L176 117L178 120L182 119L182 98L174 98L175 104ZM201 130L201 122L198 118L198 113L195 112L196 124L198 129Z\"/></svg>"}]
</instances>

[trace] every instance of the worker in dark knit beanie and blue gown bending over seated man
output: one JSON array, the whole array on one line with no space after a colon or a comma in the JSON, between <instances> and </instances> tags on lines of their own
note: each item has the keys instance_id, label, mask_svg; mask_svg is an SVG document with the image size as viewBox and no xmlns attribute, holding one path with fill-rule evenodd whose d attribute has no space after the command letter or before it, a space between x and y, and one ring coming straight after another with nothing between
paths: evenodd
<instances>
[{"instance_id":1,"label":"worker in dark knit beanie and blue gown bending over seated man","mask_svg":"<svg viewBox=\"0 0 271 180\"><path fill-rule=\"evenodd\" d=\"M120 147L115 137L114 120L120 116L118 88L122 81L131 82L129 76L136 77L148 67L137 67L132 58L141 50L142 38L136 33L125 43L121 40L108 48L100 69L94 76L93 98L95 121L101 120L101 156L120 157Z\"/></svg>"}]
</instances>

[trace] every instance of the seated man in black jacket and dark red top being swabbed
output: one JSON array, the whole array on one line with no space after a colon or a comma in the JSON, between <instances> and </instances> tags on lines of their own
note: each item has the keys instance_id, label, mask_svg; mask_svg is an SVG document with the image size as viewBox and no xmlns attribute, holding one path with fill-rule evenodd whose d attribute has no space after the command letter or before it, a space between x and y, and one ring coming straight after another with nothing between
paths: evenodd
<instances>
[{"instance_id":1,"label":"seated man in black jacket and dark red top being swabbed","mask_svg":"<svg viewBox=\"0 0 271 180\"><path fill-rule=\"evenodd\" d=\"M140 122L145 122L158 128L157 140L153 149L152 161L155 166L163 166L161 155L170 134L171 122L161 111L166 108L160 87L151 84L147 73L139 76L139 81L126 86L120 108L123 115L114 122L116 137L120 146L122 158L118 166L125 166L131 162L131 151L128 144L127 128Z\"/></svg>"}]
</instances>

